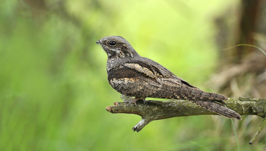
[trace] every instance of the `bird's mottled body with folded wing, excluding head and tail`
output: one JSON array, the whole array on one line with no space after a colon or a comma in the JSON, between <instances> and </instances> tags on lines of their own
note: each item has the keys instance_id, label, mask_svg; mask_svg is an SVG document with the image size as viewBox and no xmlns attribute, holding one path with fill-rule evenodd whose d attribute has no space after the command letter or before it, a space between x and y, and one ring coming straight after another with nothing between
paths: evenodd
<instances>
[{"instance_id":1,"label":"bird's mottled body with folded wing, excluding head and tail","mask_svg":"<svg viewBox=\"0 0 266 151\"><path fill-rule=\"evenodd\" d=\"M110 85L127 96L185 100L226 100L217 93L209 93L175 76L159 63L141 56L131 60L116 60L108 72Z\"/></svg>"}]
</instances>

